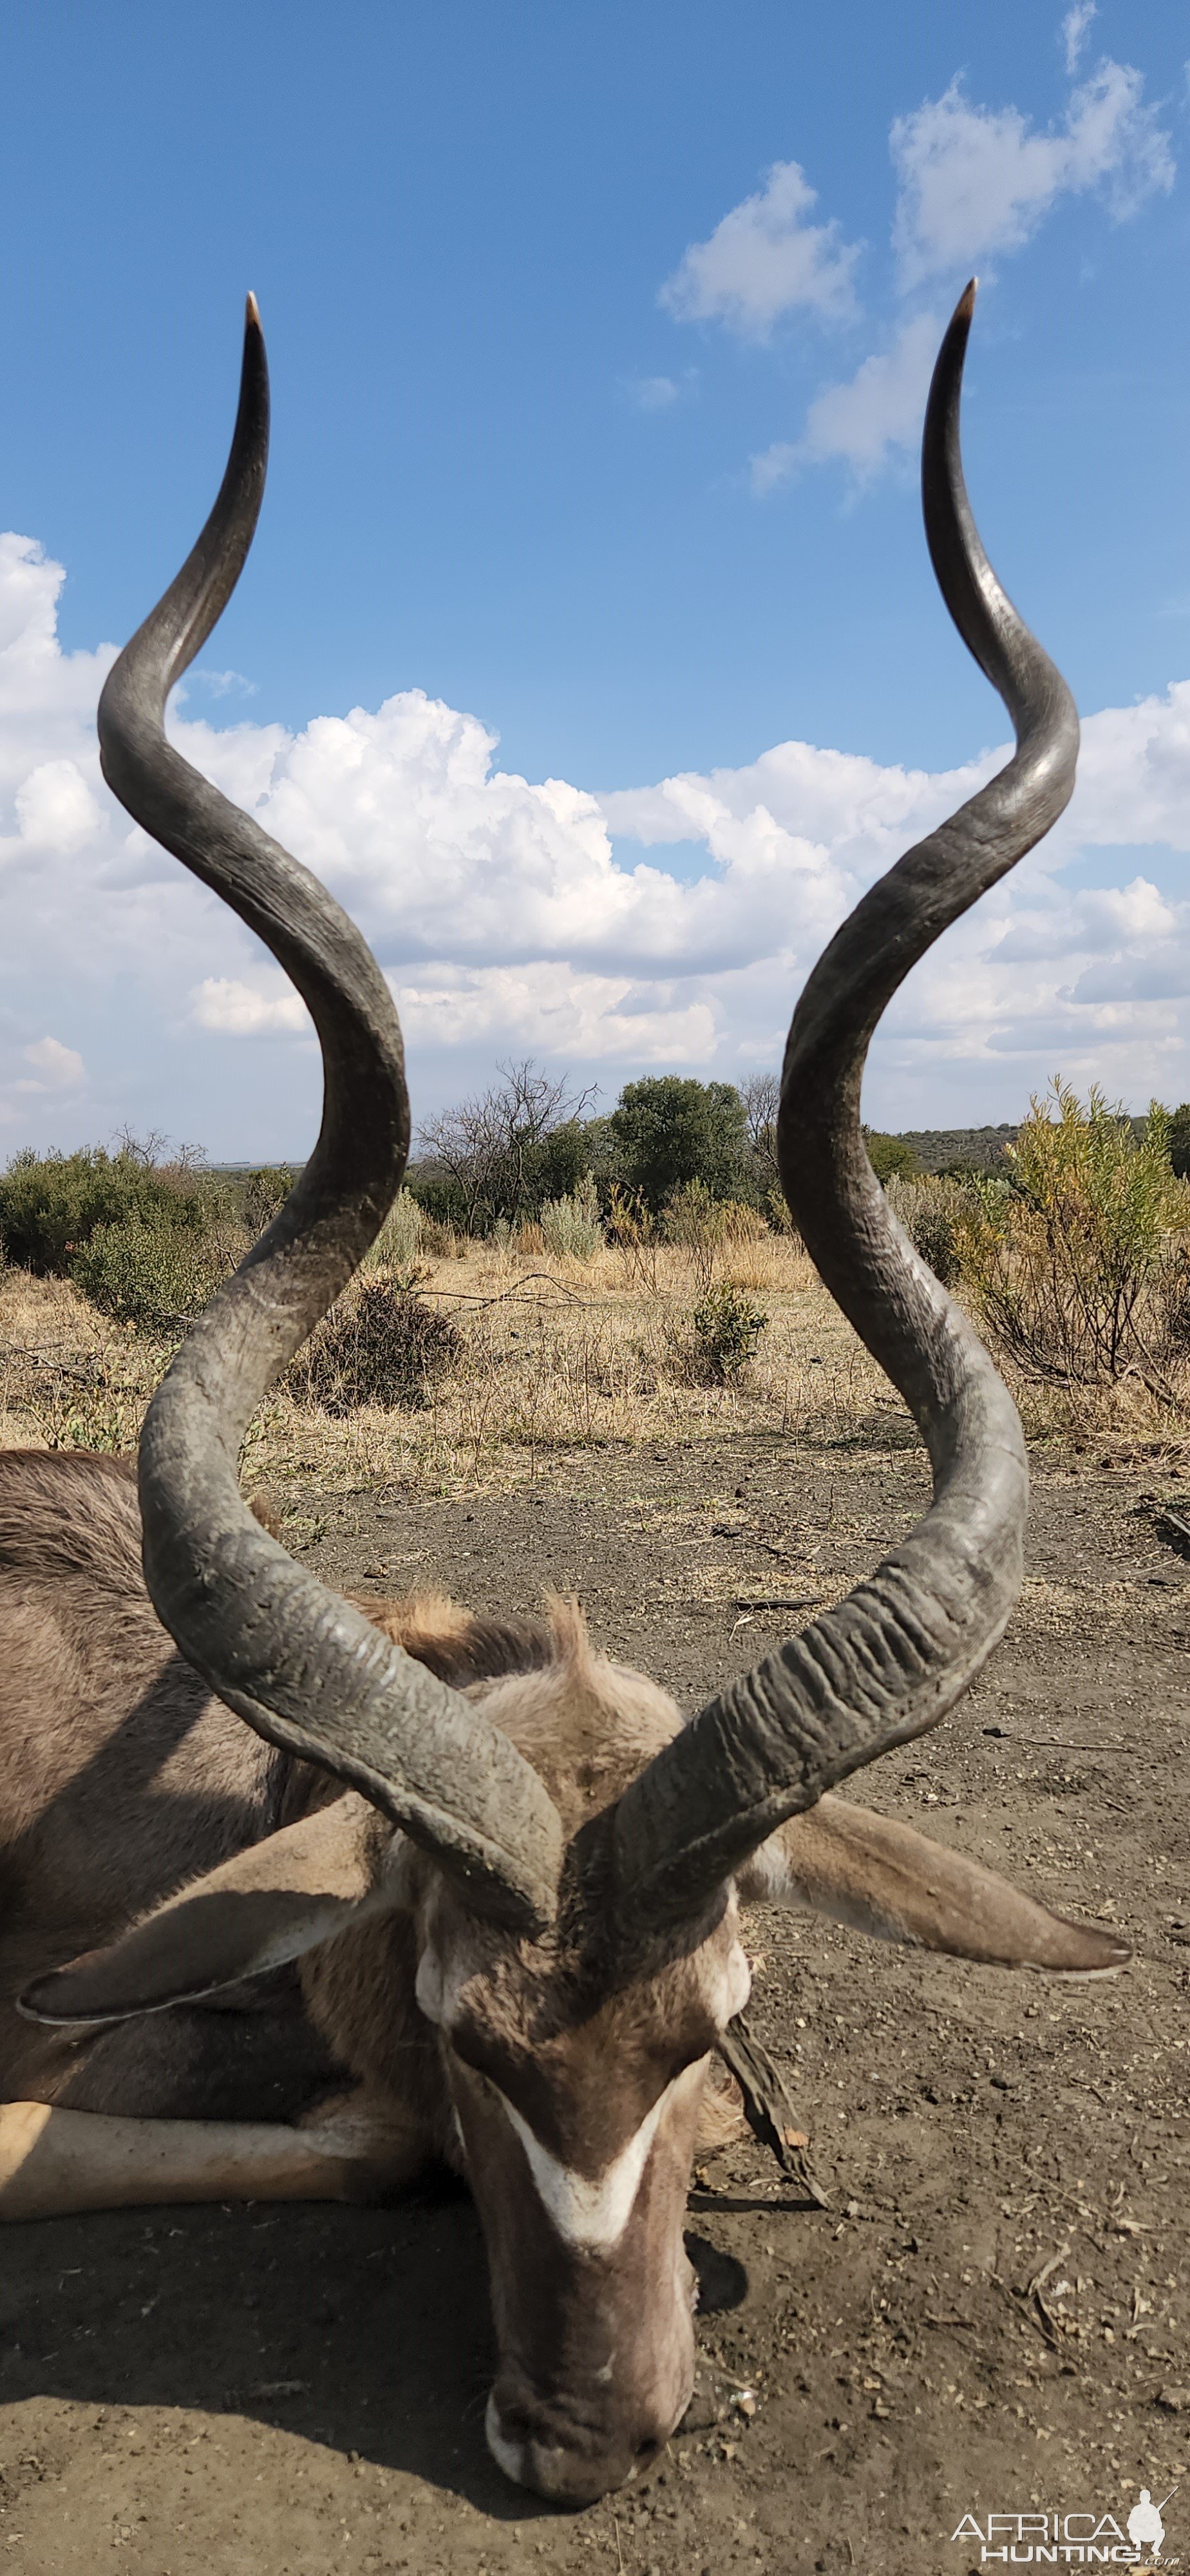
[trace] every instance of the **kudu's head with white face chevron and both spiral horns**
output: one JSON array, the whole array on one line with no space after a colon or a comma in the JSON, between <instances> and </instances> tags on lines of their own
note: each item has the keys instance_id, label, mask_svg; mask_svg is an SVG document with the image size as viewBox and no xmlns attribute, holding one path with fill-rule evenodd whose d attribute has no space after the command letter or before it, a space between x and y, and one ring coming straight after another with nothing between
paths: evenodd
<instances>
[{"instance_id":1,"label":"kudu's head with white face chevron and both spiral horns","mask_svg":"<svg viewBox=\"0 0 1190 2576\"><path fill-rule=\"evenodd\" d=\"M690 2396L683 2205L706 2066L747 1999L737 1893L775 1893L773 1837L953 1708L1020 1587L1028 1471L1015 1406L896 1226L860 1139L860 1074L889 997L1041 840L1074 783L1069 690L999 590L963 489L971 307L974 289L930 389L925 528L945 605L1005 698L1017 750L832 938L788 1033L778 1128L793 1218L920 1422L932 1504L837 1610L685 1726L652 1682L577 1641L536 1677L453 1687L294 1564L240 1497L245 1427L373 1242L410 1146L402 1038L368 948L162 729L260 507L268 379L252 301L219 500L100 701L116 796L268 943L325 1061L322 1131L301 1180L149 1409L147 1584L211 1690L345 1793L260 1847L288 1842L288 1860L260 1862L252 1937L224 1940L216 1911L203 1950L185 1899L131 1932L121 1953L137 1958L142 1942L144 1978L124 2009L193 1994L198 1958L198 1986L216 1986L366 1914L412 1919L417 2004L440 2038L489 2249L500 2372L487 2437L513 2478L564 2501L616 2486ZM242 1875L240 1891L252 1896ZM1035 1953L976 1942L968 1955ZM1102 1968L1118 1955L1100 1935L1072 1932L1051 1963ZM85 1978L52 1981L59 2017L95 2012ZM118 2009L111 1996L106 2009Z\"/></svg>"}]
</instances>

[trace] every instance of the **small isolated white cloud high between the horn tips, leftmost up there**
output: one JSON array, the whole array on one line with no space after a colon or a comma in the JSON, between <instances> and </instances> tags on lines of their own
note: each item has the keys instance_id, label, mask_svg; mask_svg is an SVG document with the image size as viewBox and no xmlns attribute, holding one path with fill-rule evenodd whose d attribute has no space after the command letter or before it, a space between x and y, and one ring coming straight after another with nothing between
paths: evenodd
<instances>
[{"instance_id":1,"label":"small isolated white cloud high between the horn tips, leftmost up there","mask_svg":"<svg viewBox=\"0 0 1190 2576\"><path fill-rule=\"evenodd\" d=\"M845 242L837 222L811 224L817 191L798 162L773 162L755 196L716 224L706 242L690 242L659 304L677 322L726 322L752 340L768 340L788 312L822 322L855 309L858 242Z\"/></svg>"}]
</instances>

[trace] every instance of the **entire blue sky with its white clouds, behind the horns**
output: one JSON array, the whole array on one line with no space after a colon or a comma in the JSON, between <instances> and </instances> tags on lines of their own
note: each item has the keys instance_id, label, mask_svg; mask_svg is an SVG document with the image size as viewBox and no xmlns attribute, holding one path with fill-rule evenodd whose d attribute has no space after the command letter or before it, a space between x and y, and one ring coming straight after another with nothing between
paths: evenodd
<instances>
[{"instance_id":1,"label":"entire blue sky with its white clouds, behind the horns","mask_svg":"<svg viewBox=\"0 0 1190 2576\"><path fill-rule=\"evenodd\" d=\"M773 1064L987 773L914 489L971 268L968 482L1087 755L868 1110L1190 1092L1182 8L44 0L0 46L0 1151L317 1118L301 1012L90 750L216 487L247 286L270 489L180 739L361 917L422 1110L528 1051L603 1103Z\"/></svg>"}]
</instances>

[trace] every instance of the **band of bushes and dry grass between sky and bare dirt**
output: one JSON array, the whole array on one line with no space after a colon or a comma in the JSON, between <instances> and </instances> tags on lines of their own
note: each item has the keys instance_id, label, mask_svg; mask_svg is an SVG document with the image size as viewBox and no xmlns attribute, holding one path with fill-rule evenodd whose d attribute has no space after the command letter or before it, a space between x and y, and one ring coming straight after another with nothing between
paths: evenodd
<instances>
[{"instance_id":1,"label":"band of bushes and dry grass between sky and bare dirt","mask_svg":"<svg viewBox=\"0 0 1190 2576\"><path fill-rule=\"evenodd\" d=\"M775 1185L775 1082L665 1077L610 1118L510 1066L438 1118L379 1244L250 1430L273 1479L518 1484L551 1450L814 1419L914 1440L824 1296ZM922 1260L968 1306L1030 1437L1180 1443L1190 1406L1190 1110L1053 1082L994 1162L868 1133ZM953 1141L953 1139L948 1139ZM425 1139L422 1139L425 1144ZM0 1175L8 1440L121 1450L188 1319L276 1216L288 1167L124 1136Z\"/></svg>"}]
</instances>

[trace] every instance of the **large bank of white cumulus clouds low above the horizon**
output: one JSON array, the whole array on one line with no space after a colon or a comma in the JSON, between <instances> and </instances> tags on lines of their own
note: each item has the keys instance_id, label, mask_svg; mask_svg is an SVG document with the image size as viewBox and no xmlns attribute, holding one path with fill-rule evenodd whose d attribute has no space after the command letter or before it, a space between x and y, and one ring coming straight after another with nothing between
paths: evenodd
<instances>
[{"instance_id":1,"label":"large bank of white cumulus clouds low above the horizon","mask_svg":"<svg viewBox=\"0 0 1190 2576\"><path fill-rule=\"evenodd\" d=\"M59 649L59 585L28 538L0 538L5 1133L77 1144L131 1118L216 1154L299 1151L319 1090L307 1012L103 786L111 649ZM775 1064L837 922L1005 757L930 773L780 742L744 768L592 793L502 770L477 716L420 690L299 734L188 716L173 734L361 922L417 1113L507 1054L605 1097L641 1069ZM1115 884L1072 891L1064 868L1092 848ZM878 1123L930 1126L943 1105L1002 1118L1056 1066L1138 1103L1187 1097L1190 902L1157 881L1159 853L1187 848L1182 680L1087 721L1072 811L914 971L873 1051Z\"/></svg>"}]
</instances>

